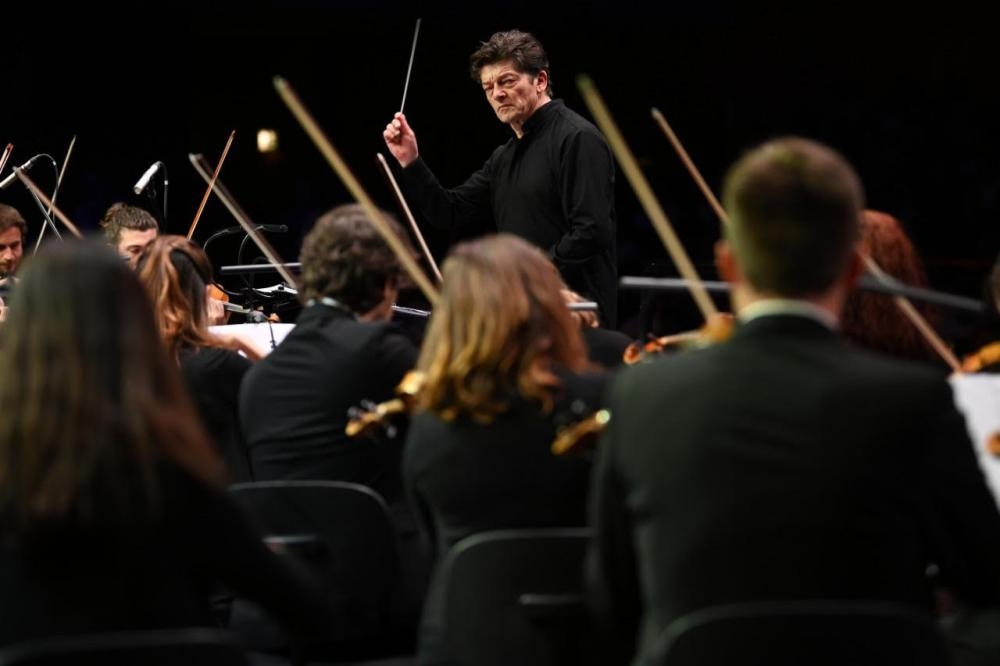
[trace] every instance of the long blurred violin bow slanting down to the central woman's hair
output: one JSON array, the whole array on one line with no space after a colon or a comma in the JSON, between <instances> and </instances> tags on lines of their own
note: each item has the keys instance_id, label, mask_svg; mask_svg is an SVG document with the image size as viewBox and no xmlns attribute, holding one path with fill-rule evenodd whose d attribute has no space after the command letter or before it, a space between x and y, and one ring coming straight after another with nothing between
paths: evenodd
<instances>
[{"instance_id":1,"label":"long blurred violin bow slanting down to the central woman's hair","mask_svg":"<svg viewBox=\"0 0 1000 666\"><path fill-rule=\"evenodd\" d=\"M326 158L333 170L337 172L340 176L341 181L347 187L348 191L354 195L355 200L361 204L365 212L368 215L371 223L375 225L375 228L385 242L389 245L389 248L396 254L396 258L399 259L403 268L409 273L410 277L424 293L424 296L430 302L431 306L437 304L438 302L438 292L437 289L431 284L430 280L427 279L427 275L423 272L419 265L417 265L416 259L410 254L410 252L403 245L402 240L396 234L395 231L385 222L382 218L382 214L379 212L375 203L372 201L368 193L365 192L364 188L361 187L361 183L358 179L354 177L351 170L348 168L347 164L340 157L337 149L333 147L330 140L326 138L323 134L323 130L320 129L319 125L313 119L312 115L305 108L302 102L299 101L298 95L292 90L292 87L288 82L280 76L274 77L274 87L281 96L281 99L285 102L288 108L291 110L292 114L302 125L302 128L306 131L309 137L316 144L316 147Z\"/></svg>"}]
</instances>

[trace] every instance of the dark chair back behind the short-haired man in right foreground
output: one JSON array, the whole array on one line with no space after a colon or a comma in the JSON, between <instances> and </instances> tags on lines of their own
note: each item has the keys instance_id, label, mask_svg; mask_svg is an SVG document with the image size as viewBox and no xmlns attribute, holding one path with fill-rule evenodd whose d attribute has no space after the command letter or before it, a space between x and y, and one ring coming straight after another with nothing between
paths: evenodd
<instances>
[{"instance_id":1,"label":"dark chair back behind the short-haired man in right foreground","mask_svg":"<svg viewBox=\"0 0 1000 666\"><path fill-rule=\"evenodd\" d=\"M918 609L876 600L759 601L693 611L648 666L946 666L947 641Z\"/></svg>"}]
</instances>

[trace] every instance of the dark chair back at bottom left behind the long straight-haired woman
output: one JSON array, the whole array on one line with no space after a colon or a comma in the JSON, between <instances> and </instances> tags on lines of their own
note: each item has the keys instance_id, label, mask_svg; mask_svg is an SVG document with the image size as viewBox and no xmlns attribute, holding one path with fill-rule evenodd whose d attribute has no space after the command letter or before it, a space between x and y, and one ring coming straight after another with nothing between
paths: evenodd
<instances>
[{"instance_id":1,"label":"dark chair back at bottom left behind the long straight-haired woman","mask_svg":"<svg viewBox=\"0 0 1000 666\"><path fill-rule=\"evenodd\" d=\"M0 666L250 666L239 641L207 627L86 633L0 648Z\"/></svg>"}]
</instances>

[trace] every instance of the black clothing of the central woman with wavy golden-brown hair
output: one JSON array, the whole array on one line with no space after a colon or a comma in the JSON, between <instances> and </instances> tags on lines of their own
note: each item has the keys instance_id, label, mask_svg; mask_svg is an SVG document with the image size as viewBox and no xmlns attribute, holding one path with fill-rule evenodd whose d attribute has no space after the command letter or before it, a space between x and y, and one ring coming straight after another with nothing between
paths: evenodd
<instances>
[{"instance_id":1,"label":"black clothing of the central woman with wavy golden-brown hair","mask_svg":"<svg viewBox=\"0 0 1000 666\"><path fill-rule=\"evenodd\" d=\"M574 401L588 405L586 412L597 409L606 375L564 379L552 414L515 399L489 425L465 418L448 423L429 412L413 416L403 475L437 566L451 546L477 532L585 524L590 463L555 456L549 447ZM421 664L447 663L439 585L435 573L421 619Z\"/></svg>"}]
</instances>

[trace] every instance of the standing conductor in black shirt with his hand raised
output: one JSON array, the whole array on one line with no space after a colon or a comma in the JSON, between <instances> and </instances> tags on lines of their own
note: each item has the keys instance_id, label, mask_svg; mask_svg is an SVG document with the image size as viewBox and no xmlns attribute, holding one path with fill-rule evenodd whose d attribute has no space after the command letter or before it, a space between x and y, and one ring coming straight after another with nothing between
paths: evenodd
<instances>
[{"instance_id":1,"label":"standing conductor in black shirt with his hand raised","mask_svg":"<svg viewBox=\"0 0 1000 666\"><path fill-rule=\"evenodd\" d=\"M542 248L570 289L617 321L614 160L601 133L553 98L542 44L519 30L497 32L470 58L473 80L514 136L462 185L445 189L417 149L406 116L382 136L402 183L432 224L491 218L497 230Z\"/></svg>"}]
</instances>

